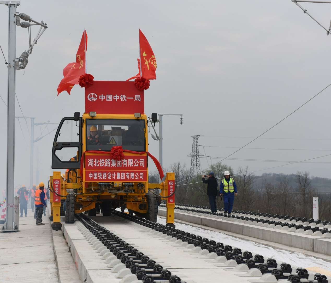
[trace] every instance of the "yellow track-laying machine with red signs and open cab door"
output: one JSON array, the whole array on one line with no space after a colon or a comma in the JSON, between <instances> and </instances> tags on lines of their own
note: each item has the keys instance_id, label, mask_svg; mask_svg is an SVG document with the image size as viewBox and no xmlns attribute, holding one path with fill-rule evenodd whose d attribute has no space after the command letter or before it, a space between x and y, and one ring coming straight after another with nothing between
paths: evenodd
<instances>
[{"instance_id":1,"label":"yellow track-laying machine with red signs and open cab door","mask_svg":"<svg viewBox=\"0 0 331 283\"><path fill-rule=\"evenodd\" d=\"M156 113L144 113L144 91L134 82L94 81L85 89L85 113L63 118L53 142L52 168L66 169L49 180L53 230L61 229L61 216L73 223L75 213L96 216L100 209L110 216L119 207L156 221L162 199L166 222L174 226L175 174L164 176L148 152L148 127L157 120ZM148 182L149 162L162 182Z\"/></svg>"}]
</instances>

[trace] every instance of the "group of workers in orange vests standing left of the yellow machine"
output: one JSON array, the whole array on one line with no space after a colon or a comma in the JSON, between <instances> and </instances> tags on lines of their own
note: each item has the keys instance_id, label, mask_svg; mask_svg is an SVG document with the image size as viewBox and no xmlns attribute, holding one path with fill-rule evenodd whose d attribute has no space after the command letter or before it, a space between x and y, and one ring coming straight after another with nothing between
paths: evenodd
<instances>
[{"instance_id":1,"label":"group of workers in orange vests standing left of the yellow machine","mask_svg":"<svg viewBox=\"0 0 331 283\"><path fill-rule=\"evenodd\" d=\"M46 215L47 201L50 199L49 190L45 188L45 184L43 182L37 186L33 184L29 190L26 189L25 185L22 185L17 194L20 202L20 217L23 217L23 212L24 216L27 217L27 204L30 199L31 211L34 212L36 225L44 225L42 215Z\"/></svg>"}]
</instances>

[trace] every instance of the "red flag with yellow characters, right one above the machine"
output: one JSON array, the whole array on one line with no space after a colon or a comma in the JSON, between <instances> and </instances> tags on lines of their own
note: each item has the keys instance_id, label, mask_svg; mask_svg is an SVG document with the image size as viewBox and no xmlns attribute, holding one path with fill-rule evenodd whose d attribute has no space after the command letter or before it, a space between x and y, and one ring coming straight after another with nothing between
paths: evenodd
<instances>
[{"instance_id":1,"label":"red flag with yellow characters, right one above the machine","mask_svg":"<svg viewBox=\"0 0 331 283\"><path fill-rule=\"evenodd\" d=\"M129 78L128 80L134 78L144 77L147 80L155 80L156 79L156 59L154 52L149 45L145 35L139 29L139 52L140 52L140 62L138 59L138 69L139 73ZM140 65L140 66L139 66Z\"/></svg>"}]
</instances>

